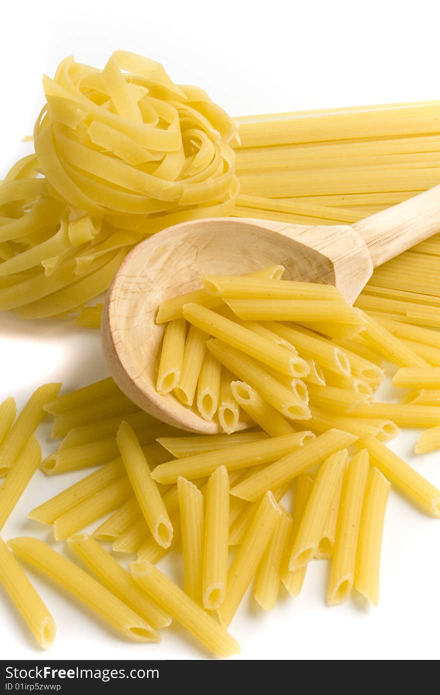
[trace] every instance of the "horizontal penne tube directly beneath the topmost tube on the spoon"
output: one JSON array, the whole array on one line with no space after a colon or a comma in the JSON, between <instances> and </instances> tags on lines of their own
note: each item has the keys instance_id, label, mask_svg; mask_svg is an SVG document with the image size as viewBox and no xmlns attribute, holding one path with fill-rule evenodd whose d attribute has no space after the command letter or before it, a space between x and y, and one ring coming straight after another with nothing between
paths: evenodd
<instances>
[{"instance_id":1,"label":"horizontal penne tube directly beneath the topmost tube on the spoon","mask_svg":"<svg viewBox=\"0 0 440 695\"><path fill-rule=\"evenodd\" d=\"M334 321L362 325L356 309L345 300L227 300L227 305L245 321ZM295 345L296 347L296 345Z\"/></svg>"}]
</instances>

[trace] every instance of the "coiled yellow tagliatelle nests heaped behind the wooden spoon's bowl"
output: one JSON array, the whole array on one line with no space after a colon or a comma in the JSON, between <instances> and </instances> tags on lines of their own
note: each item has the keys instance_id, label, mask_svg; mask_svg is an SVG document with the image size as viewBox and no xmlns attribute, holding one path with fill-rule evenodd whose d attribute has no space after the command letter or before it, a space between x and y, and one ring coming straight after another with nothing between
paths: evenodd
<instances>
[{"instance_id":1,"label":"coiled yellow tagliatelle nests heaped behind the wooden spoon's bowl","mask_svg":"<svg viewBox=\"0 0 440 695\"><path fill-rule=\"evenodd\" d=\"M24 318L81 308L142 238L229 215L239 189L236 124L154 60L66 58L43 87L35 155L0 186L0 310Z\"/></svg>"}]
</instances>

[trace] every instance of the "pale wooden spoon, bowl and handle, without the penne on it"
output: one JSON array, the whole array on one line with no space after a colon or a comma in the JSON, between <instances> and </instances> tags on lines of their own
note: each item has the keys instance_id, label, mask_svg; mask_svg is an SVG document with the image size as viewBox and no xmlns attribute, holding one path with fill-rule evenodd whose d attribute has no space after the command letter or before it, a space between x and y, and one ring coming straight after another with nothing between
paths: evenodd
<instances>
[{"instance_id":1,"label":"pale wooden spoon, bowl and handle, without the penne on it","mask_svg":"<svg viewBox=\"0 0 440 695\"><path fill-rule=\"evenodd\" d=\"M159 420L220 432L174 395L156 392L164 325L155 318L163 300L200 288L204 275L242 275L280 263L283 279L335 285L352 303L374 268L437 231L440 186L352 227L219 218L164 229L129 253L108 291L101 327L108 367L120 389Z\"/></svg>"}]
</instances>

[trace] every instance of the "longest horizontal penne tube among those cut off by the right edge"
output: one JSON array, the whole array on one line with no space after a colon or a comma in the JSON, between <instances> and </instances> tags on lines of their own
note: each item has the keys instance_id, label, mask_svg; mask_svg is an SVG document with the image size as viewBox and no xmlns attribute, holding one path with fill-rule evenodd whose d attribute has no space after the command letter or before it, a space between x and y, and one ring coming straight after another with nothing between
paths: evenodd
<instances>
[{"instance_id":1,"label":"longest horizontal penne tube among those cut off by the right edge","mask_svg":"<svg viewBox=\"0 0 440 695\"><path fill-rule=\"evenodd\" d=\"M412 403L374 402L358 405L350 411L350 418L384 418L399 427L437 427L440 425L440 408L435 405Z\"/></svg>"}]
</instances>

